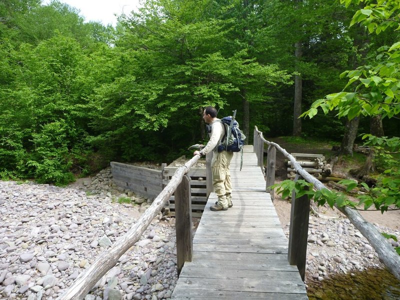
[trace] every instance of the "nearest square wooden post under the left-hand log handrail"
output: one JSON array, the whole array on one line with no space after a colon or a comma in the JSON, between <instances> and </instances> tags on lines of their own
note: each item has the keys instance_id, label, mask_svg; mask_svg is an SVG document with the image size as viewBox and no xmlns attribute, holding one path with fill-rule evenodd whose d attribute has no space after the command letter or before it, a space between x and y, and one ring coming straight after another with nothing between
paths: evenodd
<instances>
[{"instance_id":1,"label":"nearest square wooden post under the left-hand log handrail","mask_svg":"<svg viewBox=\"0 0 400 300\"><path fill-rule=\"evenodd\" d=\"M176 230L176 266L178 276L185 261L191 261L193 255L193 236L191 231L190 177L184 175L175 190L175 230Z\"/></svg>"}]
</instances>

